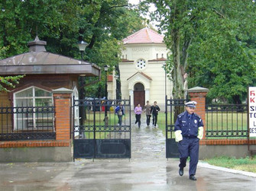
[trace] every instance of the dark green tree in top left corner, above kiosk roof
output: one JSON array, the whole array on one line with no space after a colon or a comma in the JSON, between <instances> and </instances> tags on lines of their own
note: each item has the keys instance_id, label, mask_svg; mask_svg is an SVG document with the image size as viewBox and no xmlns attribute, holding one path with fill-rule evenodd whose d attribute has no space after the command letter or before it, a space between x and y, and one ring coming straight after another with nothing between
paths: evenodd
<instances>
[{"instance_id":1,"label":"dark green tree in top left corner, above kiosk roof","mask_svg":"<svg viewBox=\"0 0 256 191\"><path fill-rule=\"evenodd\" d=\"M28 41L47 35L57 36L63 21L60 7L65 1L35 0L0 2L0 47L9 46L6 55L14 56L28 51ZM65 6L65 5L63 5Z\"/></svg>"}]
</instances>

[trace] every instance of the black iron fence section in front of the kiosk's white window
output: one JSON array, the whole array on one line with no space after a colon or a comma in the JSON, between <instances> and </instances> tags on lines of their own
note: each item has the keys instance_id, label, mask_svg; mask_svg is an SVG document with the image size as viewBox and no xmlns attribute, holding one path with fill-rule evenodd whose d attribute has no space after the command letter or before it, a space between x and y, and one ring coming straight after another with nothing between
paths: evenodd
<instances>
[{"instance_id":1,"label":"black iron fence section in front of the kiosk's white window","mask_svg":"<svg viewBox=\"0 0 256 191\"><path fill-rule=\"evenodd\" d=\"M55 139L55 107L0 107L0 141Z\"/></svg>"}]
</instances>

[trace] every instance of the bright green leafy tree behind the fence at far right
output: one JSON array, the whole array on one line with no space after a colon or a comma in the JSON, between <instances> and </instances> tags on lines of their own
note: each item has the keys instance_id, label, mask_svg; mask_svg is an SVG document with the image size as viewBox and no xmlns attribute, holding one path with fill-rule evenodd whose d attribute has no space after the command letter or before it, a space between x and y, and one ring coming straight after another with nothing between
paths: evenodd
<instances>
[{"instance_id":1,"label":"bright green leafy tree behind the fence at far right","mask_svg":"<svg viewBox=\"0 0 256 191\"><path fill-rule=\"evenodd\" d=\"M253 2L213 3L190 46L190 86L209 88L210 99L245 100L256 82L255 11Z\"/></svg>"}]
</instances>

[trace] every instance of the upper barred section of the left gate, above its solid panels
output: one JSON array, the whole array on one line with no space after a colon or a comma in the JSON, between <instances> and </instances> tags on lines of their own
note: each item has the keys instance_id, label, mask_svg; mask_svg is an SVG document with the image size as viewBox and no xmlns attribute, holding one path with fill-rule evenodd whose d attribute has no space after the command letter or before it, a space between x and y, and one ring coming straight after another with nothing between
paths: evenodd
<instances>
[{"instance_id":1,"label":"upper barred section of the left gate, above its solid panels","mask_svg":"<svg viewBox=\"0 0 256 191\"><path fill-rule=\"evenodd\" d=\"M122 103L124 115L122 123L118 124L118 115L115 107ZM83 120L76 118L79 107L85 110ZM74 139L129 139L131 138L130 100L101 100L84 99L74 100L73 103L73 126ZM81 116L79 117L81 119Z\"/></svg>"}]
</instances>

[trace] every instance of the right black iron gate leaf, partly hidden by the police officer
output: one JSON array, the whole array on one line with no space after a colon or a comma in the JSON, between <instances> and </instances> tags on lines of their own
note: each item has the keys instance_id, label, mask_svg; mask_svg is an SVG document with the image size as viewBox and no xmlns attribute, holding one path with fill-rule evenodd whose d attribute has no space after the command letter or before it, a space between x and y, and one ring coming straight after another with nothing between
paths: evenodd
<instances>
[{"instance_id":1,"label":"right black iron gate leaf, partly hidden by the police officer","mask_svg":"<svg viewBox=\"0 0 256 191\"><path fill-rule=\"evenodd\" d=\"M179 158L177 142L174 136L174 123L177 116L185 110L185 104L188 100L168 100L165 98L166 110L166 158Z\"/></svg>"}]
</instances>

